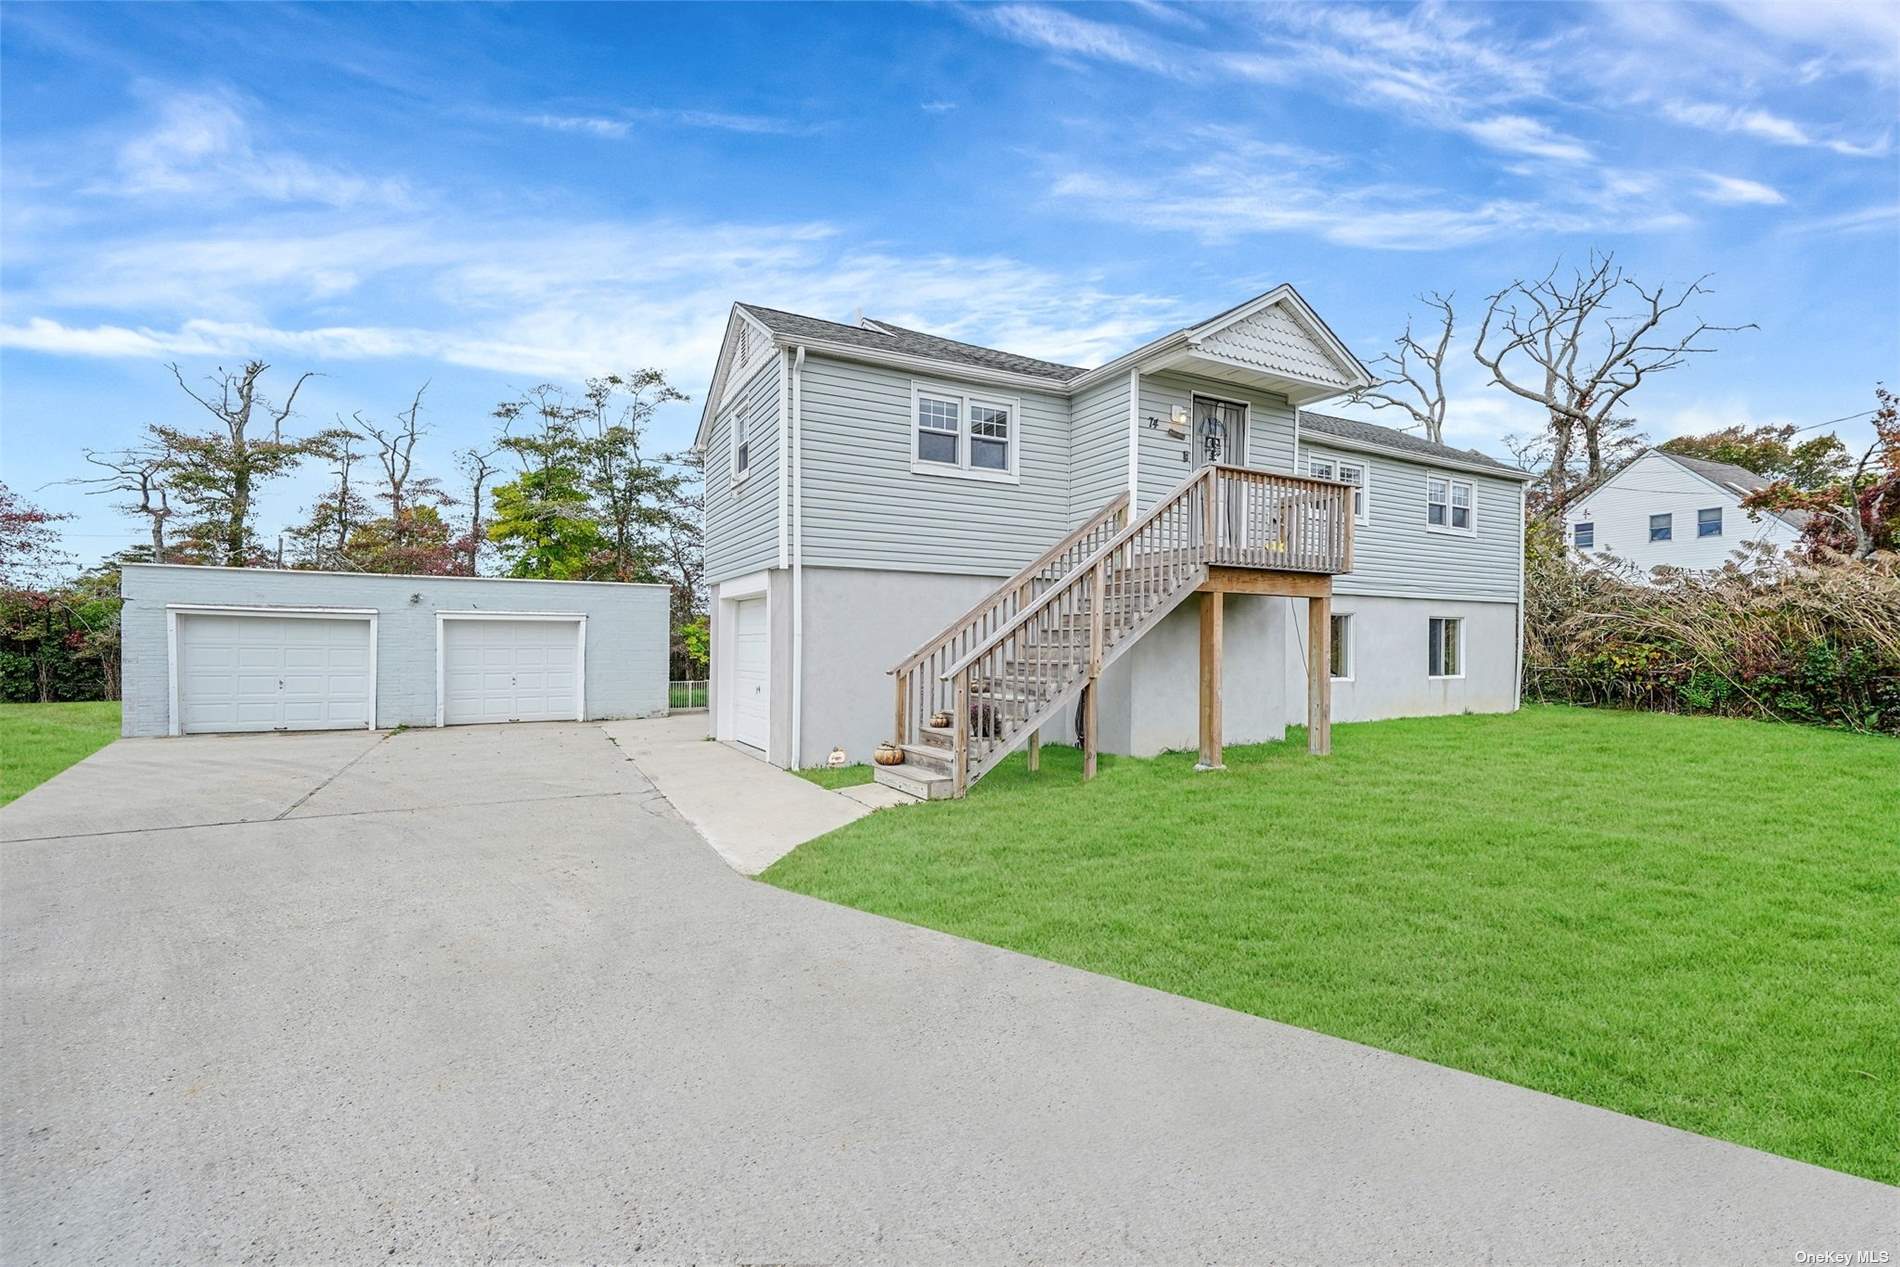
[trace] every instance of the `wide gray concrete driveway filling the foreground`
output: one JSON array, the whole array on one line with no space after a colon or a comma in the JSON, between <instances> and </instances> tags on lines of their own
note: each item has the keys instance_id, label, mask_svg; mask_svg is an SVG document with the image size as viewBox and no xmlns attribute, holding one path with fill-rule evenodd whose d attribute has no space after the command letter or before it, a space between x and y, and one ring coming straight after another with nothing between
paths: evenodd
<instances>
[{"instance_id":1,"label":"wide gray concrete driveway filling the foreground","mask_svg":"<svg viewBox=\"0 0 1900 1267\"><path fill-rule=\"evenodd\" d=\"M10 1263L1900 1248L1896 1189L745 879L593 726L127 741L0 838Z\"/></svg>"}]
</instances>

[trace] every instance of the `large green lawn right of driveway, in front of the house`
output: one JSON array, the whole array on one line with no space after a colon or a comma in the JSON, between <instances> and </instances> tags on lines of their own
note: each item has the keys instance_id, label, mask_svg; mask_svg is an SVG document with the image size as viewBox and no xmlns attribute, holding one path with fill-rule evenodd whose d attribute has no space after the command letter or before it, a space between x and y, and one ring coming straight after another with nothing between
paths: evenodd
<instances>
[{"instance_id":1,"label":"large green lawn right of driveway, in front of the house","mask_svg":"<svg viewBox=\"0 0 1900 1267\"><path fill-rule=\"evenodd\" d=\"M1585 709L1016 754L764 879L1900 1182L1900 743Z\"/></svg>"}]
</instances>

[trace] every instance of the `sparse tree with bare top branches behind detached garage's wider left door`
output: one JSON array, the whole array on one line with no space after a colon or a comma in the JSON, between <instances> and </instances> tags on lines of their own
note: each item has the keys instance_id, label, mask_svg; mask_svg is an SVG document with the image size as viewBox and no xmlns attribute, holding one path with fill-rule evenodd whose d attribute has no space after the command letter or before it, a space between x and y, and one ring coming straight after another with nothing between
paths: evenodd
<instances>
[{"instance_id":1,"label":"sparse tree with bare top branches behind detached garage's wider left door","mask_svg":"<svg viewBox=\"0 0 1900 1267\"><path fill-rule=\"evenodd\" d=\"M198 515L194 534L215 547L220 562L251 566L258 549L251 536L251 509L256 486L283 475L302 462L304 441L283 439L283 424L296 407L296 393L314 374L304 374L291 388L283 405L272 405L258 393L258 378L270 369L264 361L247 361L232 372L218 367L209 378L213 391L200 395L171 365L171 376L184 395L198 401L218 420L209 435L154 424L152 439L171 452L171 492ZM253 435L253 424L270 427L270 439Z\"/></svg>"}]
</instances>

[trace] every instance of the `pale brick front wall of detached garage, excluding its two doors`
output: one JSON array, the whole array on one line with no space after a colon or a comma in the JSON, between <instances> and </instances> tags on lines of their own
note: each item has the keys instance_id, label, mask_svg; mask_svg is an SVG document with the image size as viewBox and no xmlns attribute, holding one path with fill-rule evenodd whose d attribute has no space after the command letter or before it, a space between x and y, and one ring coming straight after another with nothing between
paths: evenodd
<instances>
[{"instance_id":1,"label":"pale brick front wall of detached garage, excluding its two doors","mask_svg":"<svg viewBox=\"0 0 1900 1267\"><path fill-rule=\"evenodd\" d=\"M665 585L125 564L120 595L125 735L171 731L169 606L374 608L378 728L435 726L437 612L581 612L587 716L667 710Z\"/></svg>"}]
</instances>

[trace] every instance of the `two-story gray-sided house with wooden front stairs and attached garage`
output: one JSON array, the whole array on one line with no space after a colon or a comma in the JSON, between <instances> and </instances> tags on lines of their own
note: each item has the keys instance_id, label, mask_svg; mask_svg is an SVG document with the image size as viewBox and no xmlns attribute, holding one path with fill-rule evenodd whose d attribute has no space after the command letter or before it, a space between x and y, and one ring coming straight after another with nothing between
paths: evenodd
<instances>
[{"instance_id":1,"label":"two-story gray-sided house with wooden front stairs and attached garage","mask_svg":"<svg viewBox=\"0 0 1900 1267\"><path fill-rule=\"evenodd\" d=\"M1366 382L1284 285L1098 369L735 304L695 441L714 735L779 766L969 745L977 777L1091 722L1132 754L1212 731L1218 764L1309 703L1514 709L1528 477L1302 412ZM929 726L958 690L969 735Z\"/></svg>"}]
</instances>

